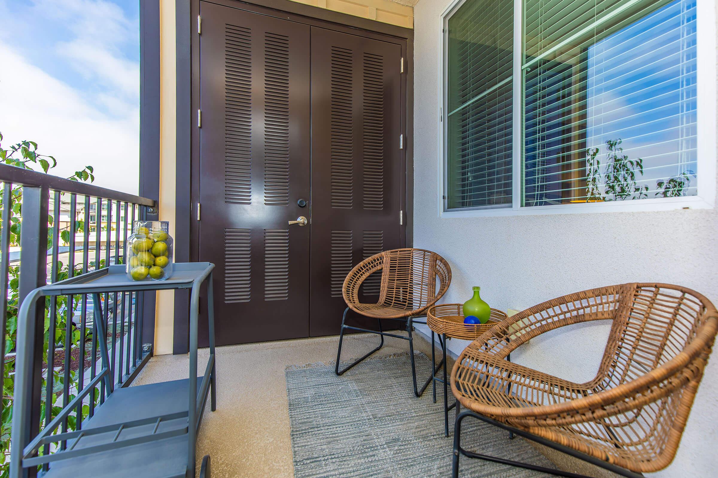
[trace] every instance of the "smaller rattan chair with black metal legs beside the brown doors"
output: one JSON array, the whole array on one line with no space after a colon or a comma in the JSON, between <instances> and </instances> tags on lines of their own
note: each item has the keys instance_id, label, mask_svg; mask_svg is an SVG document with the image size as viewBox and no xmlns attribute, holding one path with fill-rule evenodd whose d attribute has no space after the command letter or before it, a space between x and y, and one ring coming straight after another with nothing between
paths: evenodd
<instances>
[{"instance_id":1,"label":"smaller rattan chair with black metal legs beside the brown doors","mask_svg":"<svg viewBox=\"0 0 718 478\"><path fill-rule=\"evenodd\" d=\"M362 282L371 274L381 271L381 288L379 300L376 304L363 304L359 301L359 290ZM384 337L401 338L409 340L409 358L411 360L411 373L414 378L414 394L421 396L429 385L433 374L426 380L419 390L416 383L416 364L414 363L414 338L412 336L415 323L426 324L416 320L426 316L426 309L434 305L449 288L451 282L451 267L446 260L436 252L424 249L393 249L368 257L354 267L342 287L342 294L348 307L342 316L342 328L339 334L339 348L337 350L337 365L335 372L342 375L354 365L380 350L384 345ZM378 330L369 330L346 324L347 312L353 310L365 317L375 318ZM391 319L403 322L407 335L397 335L384 332L381 320ZM340 370L342 354L342 340L345 330L359 330L377 334L381 337L379 345ZM443 362L442 362L443 363ZM442 363L434 370L439 371Z\"/></svg>"}]
</instances>

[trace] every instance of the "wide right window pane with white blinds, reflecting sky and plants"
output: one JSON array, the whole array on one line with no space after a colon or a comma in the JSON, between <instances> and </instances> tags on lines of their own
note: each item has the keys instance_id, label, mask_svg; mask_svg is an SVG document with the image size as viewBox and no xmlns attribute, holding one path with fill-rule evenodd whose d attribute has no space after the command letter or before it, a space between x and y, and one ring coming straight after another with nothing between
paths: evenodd
<instances>
[{"instance_id":1,"label":"wide right window pane with white blinds, reflecting sky and plants","mask_svg":"<svg viewBox=\"0 0 718 478\"><path fill-rule=\"evenodd\" d=\"M696 195L696 0L525 0L522 206Z\"/></svg>"}]
</instances>

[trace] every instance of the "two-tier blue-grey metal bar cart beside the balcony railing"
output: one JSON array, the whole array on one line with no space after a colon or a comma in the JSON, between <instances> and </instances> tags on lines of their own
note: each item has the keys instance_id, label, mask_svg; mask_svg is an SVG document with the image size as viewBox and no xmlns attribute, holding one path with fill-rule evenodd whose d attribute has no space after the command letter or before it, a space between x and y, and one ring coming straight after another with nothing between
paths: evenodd
<instances>
[{"instance_id":1,"label":"two-tier blue-grey metal bar cart beside the balcony railing","mask_svg":"<svg viewBox=\"0 0 718 478\"><path fill-rule=\"evenodd\" d=\"M172 276L164 281L134 282L123 265L98 269L33 290L18 312L15 400L10 451L10 477L21 478L43 466L42 476L72 477L195 477L195 445L208 395L216 408L215 337L212 269L209 262L174 264ZM210 356L205 373L197 376L197 322L200 286L208 282ZM31 430L32 360L34 327L29 312L45 296L88 294L95 311L101 310L104 292L191 289L190 376L185 380L114 388L113 366L107 351L102 320L93 320L100 340L102 368L79 390L65 408L42 430ZM101 317L102 315L97 315ZM41 332L42 333L42 332ZM114 338L113 338L114 340ZM99 391L99 393L91 391ZM95 413L75 431L57 433L62 421L83 403L101 395ZM50 453L42 450L50 446ZM201 476L209 477L209 457L204 457Z\"/></svg>"}]
</instances>

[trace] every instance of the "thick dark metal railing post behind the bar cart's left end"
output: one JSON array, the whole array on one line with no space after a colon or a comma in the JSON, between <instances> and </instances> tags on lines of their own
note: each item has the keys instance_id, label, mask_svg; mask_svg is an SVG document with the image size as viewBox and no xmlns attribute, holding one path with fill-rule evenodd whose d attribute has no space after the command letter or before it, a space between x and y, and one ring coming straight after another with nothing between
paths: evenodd
<instances>
[{"instance_id":1,"label":"thick dark metal railing post behind the bar cart's left end","mask_svg":"<svg viewBox=\"0 0 718 478\"><path fill-rule=\"evenodd\" d=\"M47 209L50 204L50 191L47 186L22 188L22 229L20 235L20 279L19 304L25 300L32 290L47 283ZM58 221L60 218L53 218ZM29 406L30 413L24 414L26 419L22 423L25 429L23 436L31 439L37 434L40 426L40 409L42 393L42 351L45 344L45 300L39 300L32 307L27 323L27 337L32 338L32 376L29 382L32 390L29 392L30 400L22 406ZM34 320L32 320L34 317ZM71 315L68 314L70 320ZM19 407L14 404L17 413ZM15 425L14 425L15 426ZM24 448L27 443L14 443L12 446ZM27 470L27 476L37 475L36 469Z\"/></svg>"}]
</instances>

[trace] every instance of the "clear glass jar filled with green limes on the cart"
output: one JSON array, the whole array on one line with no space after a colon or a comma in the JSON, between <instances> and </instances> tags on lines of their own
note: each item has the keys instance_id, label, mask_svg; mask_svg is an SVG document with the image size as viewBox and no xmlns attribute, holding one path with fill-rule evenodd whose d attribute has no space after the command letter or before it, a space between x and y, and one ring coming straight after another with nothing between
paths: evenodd
<instances>
[{"instance_id":1,"label":"clear glass jar filled with green limes on the cart","mask_svg":"<svg viewBox=\"0 0 718 478\"><path fill-rule=\"evenodd\" d=\"M169 221L134 221L127 238L126 272L131 280L165 280L172 275Z\"/></svg>"}]
</instances>

